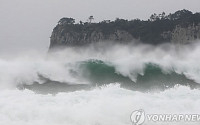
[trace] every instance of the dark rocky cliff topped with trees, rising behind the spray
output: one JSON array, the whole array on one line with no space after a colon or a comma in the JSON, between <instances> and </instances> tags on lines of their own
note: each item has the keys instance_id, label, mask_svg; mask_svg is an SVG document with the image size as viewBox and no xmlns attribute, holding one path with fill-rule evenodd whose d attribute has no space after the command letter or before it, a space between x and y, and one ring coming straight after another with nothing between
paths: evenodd
<instances>
[{"instance_id":1,"label":"dark rocky cliff topped with trees, rising behind the spray","mask_svg":"<svg viewBox=\"0 0 200 125\"><path fill-rule=\"evenodd\" d=\"M200 38L200 13L177 11L167 16L151 16L151 20L80 22L62 18L54 28L50 49L58 46L81 46L94 42L115 41L126 43L135 39L148 44L171 42L187 44Z\"/></svg>"}]
</instances>

